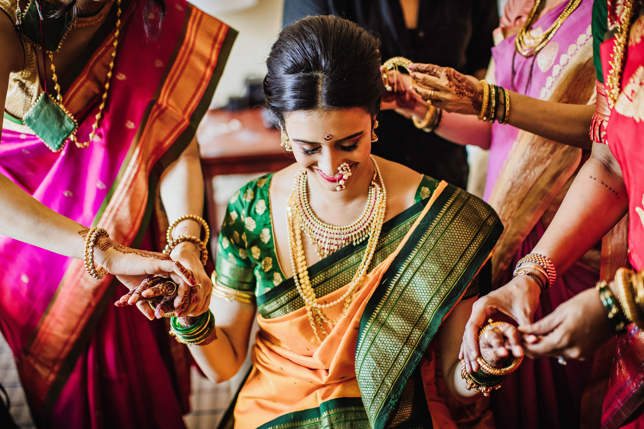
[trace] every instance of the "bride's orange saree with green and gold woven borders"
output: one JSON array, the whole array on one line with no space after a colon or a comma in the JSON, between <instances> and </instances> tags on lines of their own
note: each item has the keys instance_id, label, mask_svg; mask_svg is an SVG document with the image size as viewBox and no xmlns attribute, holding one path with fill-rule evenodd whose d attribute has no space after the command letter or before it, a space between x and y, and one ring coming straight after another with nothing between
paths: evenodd
<instances>
[{"instance_id":1,"label":"bride's orange saree with green and gold woven borders","mask_svg":"<svg viewBox=\"0 0 644 429\"><path fill-rule=\"evenodd\" d=\"M430 419L441 427L418 363L502 229L486 203L441 182L430 198L383 225L362 288L345 316L326 326L321 344L293 278L258 297L254 366L234 427L420 428ZM365 248L346 246L308 268L320 300L345 293ZM341 307L325 314L337 318Z\"/></svg>"}]
</instances>

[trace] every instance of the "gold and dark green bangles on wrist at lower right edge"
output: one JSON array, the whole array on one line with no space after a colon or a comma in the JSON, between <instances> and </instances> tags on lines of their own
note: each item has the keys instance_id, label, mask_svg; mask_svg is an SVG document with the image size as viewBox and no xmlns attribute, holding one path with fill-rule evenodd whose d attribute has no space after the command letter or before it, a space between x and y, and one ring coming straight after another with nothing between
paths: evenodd
<instances>
[{"instance_id":1,"label":"gold and dark green bangles on wrist at lower right edge","mask_svg":"<svg viewBox=\"0 0 644 429\"><path fill-rule=\"evenodd\" d=\"M618 269L615 273L617 297L604 280L596 288L616 333L624 332L630 323L644 329L644 270Z\"/></svg>"}]
</instances>

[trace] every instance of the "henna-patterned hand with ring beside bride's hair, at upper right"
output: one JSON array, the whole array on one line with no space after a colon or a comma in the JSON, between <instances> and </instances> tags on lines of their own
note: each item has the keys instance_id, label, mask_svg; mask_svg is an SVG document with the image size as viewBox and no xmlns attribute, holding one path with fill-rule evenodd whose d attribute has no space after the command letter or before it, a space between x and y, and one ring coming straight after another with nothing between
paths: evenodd
<instances>
[{"instance_id":1,"label":"henna-patterned hand with ring beside bride's hair, at upper right","mask_svg":"<svg viewBox=\"0 0 644 429\"><path fill-rule=\"evenodd\" d=\"M483 84L473 76L435 64L411 64L412 87L424 100L448 112L478 114ZM433 91L433 92L432 92Z\"/></svg>"}]
</instances>

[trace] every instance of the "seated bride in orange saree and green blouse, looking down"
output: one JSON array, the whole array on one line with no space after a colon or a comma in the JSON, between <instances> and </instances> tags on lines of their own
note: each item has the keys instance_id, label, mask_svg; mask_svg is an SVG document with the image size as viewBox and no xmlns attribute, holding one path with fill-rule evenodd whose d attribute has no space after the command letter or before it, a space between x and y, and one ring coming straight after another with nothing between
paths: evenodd
<instances>
[{"instance_id":1,"label":"seated bride in orange saree and green blouse, looking down","mask_svg":"<svg viewBox=\"0 0 644 429\"><path fill-rule=\"evenodd\" d=\"M370 154L380 64L377 39L332 16L272 46L267 107L297 162L232 196L212 313L171 321L220 382L240 369L259 311L235 428L452 427L431 381L435 348L451 394L480 396L459 347L502 225L477 197Z\"/></svg>"}]
</instances>

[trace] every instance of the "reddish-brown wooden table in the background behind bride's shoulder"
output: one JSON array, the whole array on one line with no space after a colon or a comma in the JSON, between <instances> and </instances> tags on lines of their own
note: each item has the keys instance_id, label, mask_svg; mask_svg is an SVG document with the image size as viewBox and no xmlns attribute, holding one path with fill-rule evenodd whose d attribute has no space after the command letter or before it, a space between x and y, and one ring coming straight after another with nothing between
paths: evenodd
<instances>
[{"instance_id":1,"label":"reddish-brown wooden table in the background behind bride's shoulder","mask_svg":"<svg viewBox=\"0 0 644 429\"><path fill-rule=\"evenodd\" d=\"M214 176L273 172L295 162L279 145L279 131L264 126L261 111L260 107L236 112L212 109L197 129L211 226L216 219ZM215 235L219 226L212 229Z\"/></svg>"}]
</instances>

